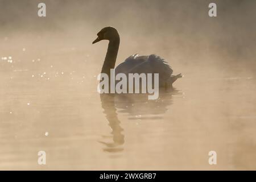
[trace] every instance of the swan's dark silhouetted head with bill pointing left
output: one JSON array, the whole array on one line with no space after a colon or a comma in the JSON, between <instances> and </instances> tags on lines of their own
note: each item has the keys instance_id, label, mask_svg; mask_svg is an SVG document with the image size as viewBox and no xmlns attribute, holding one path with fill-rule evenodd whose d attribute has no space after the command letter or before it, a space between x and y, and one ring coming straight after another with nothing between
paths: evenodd
<instances>
[{"instance_id":1,"label":"swan's dark silhouetted head with bill pointing left","mask_svg":"<svg viewBox=\"0 0 256 182\"><path fill-rule=\"evenodd\" d=\"M96 42L100 42L101 40L115 40L119 39L119 34L117 29L114 27L105 27L102 28L100 32L97 34L97 39L93 41L93 44Z\"/></svg>"}]
</instances>

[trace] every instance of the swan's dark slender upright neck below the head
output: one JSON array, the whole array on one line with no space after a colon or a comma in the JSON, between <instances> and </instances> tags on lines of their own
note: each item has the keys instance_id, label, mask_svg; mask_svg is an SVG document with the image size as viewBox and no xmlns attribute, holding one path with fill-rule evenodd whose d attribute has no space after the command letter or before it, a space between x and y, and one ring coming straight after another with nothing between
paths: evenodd
<instances>
[{"instance_id":1,"label":"swan's dark slender upright neck below the head","mask_svg":"<svg viewBox=\"0 0 256 182\"><path fill-rule=\"evenodd\" d=\"M101 73L106 73L108 76L110 76L110 69L114 69L115 61L117 60L119 43L120 43L119 36L117 36L113 40L109 40L108 51L106 53L106 57L101 69Z\"/></svg>"}]
</instances>

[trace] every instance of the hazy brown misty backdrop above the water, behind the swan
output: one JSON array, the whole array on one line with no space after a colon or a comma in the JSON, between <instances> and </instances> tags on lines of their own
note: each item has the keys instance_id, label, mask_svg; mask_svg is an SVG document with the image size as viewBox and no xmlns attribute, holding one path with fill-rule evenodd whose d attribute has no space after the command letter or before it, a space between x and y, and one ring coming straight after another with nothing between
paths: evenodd
<instances>
[{"instance_id":1,"label":"hazy brown misty backdrop above the water, behind the swan","mask_svg":"<svg viewBox=\"0 0 256 182\"><path fill-rule=\"evenodd\" d=\"M39 2L47 5L46 18L37 16ZM220 69L237 64L234 72L254 72L256 2L214 1L216 18L208 16L210 2L1 0L0 35L33 44L35 49L49 48L52 40L56 47L68 42L92 54L95 48L90 44L97 32L111 25L121 34L119 60L136 52L157 53L179 64ZM31 36L41 39L29 39ZM21 46L19 43L13 46ZM5 51L2 44L1 51ZM100 49L99 53L102 59L105 52Z\"/></svg>"}]
</instances>

